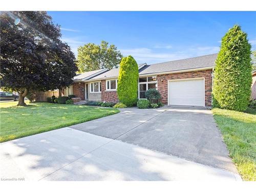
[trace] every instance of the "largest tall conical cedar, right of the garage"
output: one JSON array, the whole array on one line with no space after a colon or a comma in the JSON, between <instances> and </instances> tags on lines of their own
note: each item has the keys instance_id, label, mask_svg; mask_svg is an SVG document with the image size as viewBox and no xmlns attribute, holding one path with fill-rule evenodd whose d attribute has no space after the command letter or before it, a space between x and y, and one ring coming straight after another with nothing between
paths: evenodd
<instances>
[{"instance_id":1,"label":"largest tall conical cedar, right of the garage","mask_svg":"<svg viewBox=\"0 0 256 192\"><path fill-rule=\"evenodd\" d=\"M252 83L250 49L247 34L238 25L222 38L214 73L214 107L246 110Z\"/></svg>"}]
</instances>

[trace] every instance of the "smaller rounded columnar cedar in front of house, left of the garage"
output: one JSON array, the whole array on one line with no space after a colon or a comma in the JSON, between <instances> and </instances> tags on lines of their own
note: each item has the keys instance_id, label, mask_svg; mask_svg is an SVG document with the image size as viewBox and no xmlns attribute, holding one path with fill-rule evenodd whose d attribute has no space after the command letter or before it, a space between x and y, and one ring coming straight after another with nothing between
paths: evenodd
<instances>
[{"instance_id":1,"label":"smaller rounded columnar cedar in front of house, left of the garage","mask_svg":"<svg viewBox=\"0 0 256 192\"><path fill-rule=\"evenodd\" d=\"M138 98L139 69L137 62L130 55L123 57L120 63L117 94L121 103L134 106Z\"/></svg>"}]
</instances>

